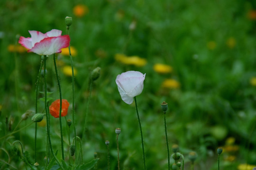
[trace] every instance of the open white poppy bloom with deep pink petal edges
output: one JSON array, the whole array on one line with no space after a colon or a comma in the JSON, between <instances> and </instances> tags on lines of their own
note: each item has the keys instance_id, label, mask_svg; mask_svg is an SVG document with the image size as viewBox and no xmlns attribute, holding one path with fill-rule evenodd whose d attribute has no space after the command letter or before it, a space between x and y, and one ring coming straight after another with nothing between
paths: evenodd
<instances>
[{"instance_id":1,"label":"open white poppy bloom with deep pink petal edges","mask_svg":"<svg viewBox=\"0 0 256 170\"><path fill-rule=\"evenodd\" d=\"M61 30L53 29L46 34L39 31L28 31L31 38L21 36L18 40L22 46L28 49L27 52L35 52L39 55L51 55L60 53L62 48L69 46L69 35L61 35Z\"/></svg>"}]
</instances>

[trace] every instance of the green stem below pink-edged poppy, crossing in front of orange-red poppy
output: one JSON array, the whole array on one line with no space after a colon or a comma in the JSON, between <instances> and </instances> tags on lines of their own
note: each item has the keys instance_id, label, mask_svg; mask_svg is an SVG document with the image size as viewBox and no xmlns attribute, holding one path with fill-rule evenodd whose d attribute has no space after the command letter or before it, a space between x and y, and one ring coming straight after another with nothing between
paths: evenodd
<instances>
[{"instance_id":1,"label":"green stem below pink-edged poppy, crossing in front of orange-red poppy","mask_svg":"<svg viewBox=\"0 0 256 170\"><path fill-rule=\"evenodd\" d=\"M55 73L57 77L57 82L58 82L58 87L59 87L59 92L60 92L60 112L59 112L59 120L60 120L60 135L61 135L61 153L62 153L62 159L64 160L64 146L63 146L63 134L62 134L62 123L61 123L61 112L62 112L62 94L61 94L61 86L60 86L60 80L59 80L59 75L58 75L58 70L57 70L57 65L56 65L56 55L54 53L54 67L55 67Z\"/></svg>"}]
</instances>

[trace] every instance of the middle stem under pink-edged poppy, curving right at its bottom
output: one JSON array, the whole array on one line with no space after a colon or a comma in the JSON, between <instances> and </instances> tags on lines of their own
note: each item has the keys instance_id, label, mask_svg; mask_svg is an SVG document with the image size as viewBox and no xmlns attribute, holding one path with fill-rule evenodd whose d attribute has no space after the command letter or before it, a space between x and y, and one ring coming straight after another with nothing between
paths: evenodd
<instances>
[{"instance_id":1,"label":"middle stem under pink-edged poppy, curving right at its bottom","mask_svg":"<svg viewBox=\"0 0 256 170\"><path fill-rule=\"evenodd\" d=\"M53 152L53 148L52 148L52 142L51 142L51 137L50 137L50 125L49 125L49 109L48 109L48 106L47 106L47 85L46 85L46 56L44 57L44 82L45 82L45 109L46 109L46 126L47 126L47 136L48 136L48 139L49 139L49 146L50 146L50 150L51 150L51 153L52 155L54 156L55 158L55 161L57 161L58 165L61 167L62 170L64 170L64 168L62 167L60 161L56 158L54 152ZM47 149L47 148L46 148ZM47 158L48 159L48 158Z\"/></svg>"}]
</instances>

